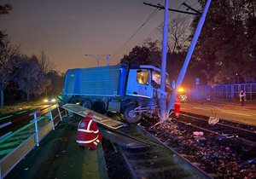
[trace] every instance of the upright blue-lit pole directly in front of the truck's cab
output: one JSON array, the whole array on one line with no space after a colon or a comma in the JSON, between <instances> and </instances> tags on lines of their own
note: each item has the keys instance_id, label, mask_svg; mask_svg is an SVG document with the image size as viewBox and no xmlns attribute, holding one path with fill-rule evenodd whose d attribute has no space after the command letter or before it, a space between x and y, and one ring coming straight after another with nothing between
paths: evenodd
<instances>
[{"instance_id":1,"label":"upright blue-lit pole directly in front of the truck's cab","mask_svg":"<svg viewBox=\"0 0 256 179\"><path fill-rule=\"evenodd\" d=\"M162 62L161 62L161 82L160 89L166 91L166 56L168 42L168 8L169 0L165 1L165 19L163 26L163 41L162 41ZM166 95L160 96L160 122L166 120Z\"/></svg>"}]
</instances>

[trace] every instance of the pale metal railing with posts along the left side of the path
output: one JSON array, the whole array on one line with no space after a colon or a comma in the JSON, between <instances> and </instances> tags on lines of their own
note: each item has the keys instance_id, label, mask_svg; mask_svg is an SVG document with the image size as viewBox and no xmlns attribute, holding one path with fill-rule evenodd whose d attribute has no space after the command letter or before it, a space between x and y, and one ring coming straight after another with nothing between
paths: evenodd
<instances>
[{"instance_id":1,"label":"pale metal railing with posts along the left side of the path","mask_svg":"<svg viewBox=\"0 0 256 179\"><path fill-rule=\"evenodd\" d=\"M19 130L10 133L8 136L5 136L0 140L0 145L3 145L4 141L8 141L21 132L26 132L29 134L25 141L20 143L19 146L15 147L13 151L11 151L9 154L4 156L3 159L0 160L0 179L2 179L4 176L7 176L10 170L12 170L15 165L17 165L20 160L23 159L26 154L29 153L34 147L38 147L39 141L41 141L44 136L49 134L51 130L55 130L55 125L57 125L58 122L62 120L59 106L57 105L55 109L58 110L58 113L55 115L55 117L53 117L51 106L48 107L49 118L47 118L45 115L43 117L37 117L37 113L40 111L30 113L30 116L34 116L32 121L30 121L30 124L27 124Z\"/></svg>"}]
</instances>

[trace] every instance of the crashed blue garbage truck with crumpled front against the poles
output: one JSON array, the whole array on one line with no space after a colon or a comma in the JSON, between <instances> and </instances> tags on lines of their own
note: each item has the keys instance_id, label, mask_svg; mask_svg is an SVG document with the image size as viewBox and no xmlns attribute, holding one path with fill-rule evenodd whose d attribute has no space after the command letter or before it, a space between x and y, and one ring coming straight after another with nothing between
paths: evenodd
<instances>
[{"instance_id":1,"label":"crashed blue garbage truck with crumpled front against the poles","mask_svg":"<svg viewBox=\"0 0 256 179\"><path fill-rule=\"evenodd\" d=\"M143 115L159 113L158 99L168 95L169 84L166 78L166 90L160 90L160 69L151 65L68 69L62 100L99 113L123 113L127 122L136 123Z\"/></svg>"}]
</instances>

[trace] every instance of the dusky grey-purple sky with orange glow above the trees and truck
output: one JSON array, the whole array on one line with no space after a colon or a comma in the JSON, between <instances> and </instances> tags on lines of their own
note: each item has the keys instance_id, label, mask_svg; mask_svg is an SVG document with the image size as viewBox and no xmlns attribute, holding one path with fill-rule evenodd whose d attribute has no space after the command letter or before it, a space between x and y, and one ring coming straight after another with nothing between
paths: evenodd
<instances>
[{"instance_id":1,"label":"dusky grey-purple sky with orange glow above the trees and truck","mask_svg":"<svg viewBox=\"0 0 256 179\"><path fill-rule=\"evenodd\" d=\"M170 0L169 8L177 9L184 1ZM84 54L110 54L110 65L115 65L163 21L164 10L158 10L116 54L154 11L143 2L164 5L160 0L0 0L1 4L13 6L10 14L0 16L0 27L9 34L12 43L21 44L23 54L38 55L44 49L56 70L61 72L68 68L96 66L96 60ZM198 7L195 0L185 2ZM169 14L170 18L177 15ZM161 34L153 32L150 38L161 41ZM102 57L100 66L105 65L106 58Z\"/></svg>"}]
</instances>

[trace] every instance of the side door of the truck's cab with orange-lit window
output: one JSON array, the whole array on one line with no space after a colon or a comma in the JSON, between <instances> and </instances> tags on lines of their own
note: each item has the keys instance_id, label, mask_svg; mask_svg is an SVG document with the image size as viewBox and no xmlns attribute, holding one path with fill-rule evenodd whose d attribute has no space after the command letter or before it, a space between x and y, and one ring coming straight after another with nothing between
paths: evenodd
<instances>
[{"instance_id":1,"label":"side door of the truck's cab with orange-lit window","mask_svg":"<svg viewBox=\"0 0 256 179\"><path fill-rule=\"evenodd\" d=\"M130 70L126 95L153 98L153 87L151 85L151 73L149 70Z\"/></svg>"}]
</instances>

